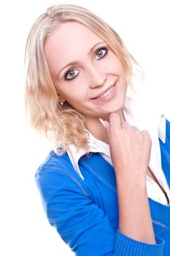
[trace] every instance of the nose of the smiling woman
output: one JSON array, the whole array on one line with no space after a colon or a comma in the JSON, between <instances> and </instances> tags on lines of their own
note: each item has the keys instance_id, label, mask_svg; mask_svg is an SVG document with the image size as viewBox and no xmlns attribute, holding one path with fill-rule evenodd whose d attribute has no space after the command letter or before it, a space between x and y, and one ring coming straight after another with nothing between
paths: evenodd
<instances>
[{"instance_id":1,"label":"nose of the smiling woman","mask_svg":"<svg viewBox=\"0 0 170 256\"><path fill-rule=\"evenodd\" d=\"M104 85L107 80L107 75L103 69L96 67L96 65L90 66L90 88L97 88Z\"/></svg>"}]
</instances>

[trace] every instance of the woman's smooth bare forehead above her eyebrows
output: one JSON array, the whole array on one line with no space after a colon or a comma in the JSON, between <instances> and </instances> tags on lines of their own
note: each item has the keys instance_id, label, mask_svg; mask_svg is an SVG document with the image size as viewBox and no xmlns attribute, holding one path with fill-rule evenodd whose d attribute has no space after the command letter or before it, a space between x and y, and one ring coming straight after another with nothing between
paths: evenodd
<instances>
[{"instance_id":1,"label":"woman's smooth bare forehead above her eyebrows","mask_svg":"<svg viewBox=\"0 0 170 256\"><path fill-rule=\"evenodd\" d=\"M59 61L63 66L70 61L77 61L77 58L88 53L97 42L102 42L102 39L81 23L61 23L47 37L45 56L50 66L53 66L51 64L54 61L57 63ZM58 64L58 66L61 65Z\"/></svg>"}]
</instances>

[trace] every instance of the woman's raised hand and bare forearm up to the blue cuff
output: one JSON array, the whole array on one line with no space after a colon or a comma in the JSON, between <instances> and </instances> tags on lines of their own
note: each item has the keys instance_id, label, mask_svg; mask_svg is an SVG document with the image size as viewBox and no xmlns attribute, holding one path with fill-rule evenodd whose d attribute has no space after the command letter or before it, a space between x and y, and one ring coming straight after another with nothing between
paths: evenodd
<instances>
[{"instance_id":1,"label":"woman's raised hand and bare forearm up to the blue cuff","mask_svg":"<svg viewBox=\"0 0 170 256\"><path fill-rule=\"evenodd\" d=\"M105 124L117 178L120 232L137 241L155 244L146 189L150 135L130 127L117 113L111 113L109 123Z\"/></svg>"}]
</instances>

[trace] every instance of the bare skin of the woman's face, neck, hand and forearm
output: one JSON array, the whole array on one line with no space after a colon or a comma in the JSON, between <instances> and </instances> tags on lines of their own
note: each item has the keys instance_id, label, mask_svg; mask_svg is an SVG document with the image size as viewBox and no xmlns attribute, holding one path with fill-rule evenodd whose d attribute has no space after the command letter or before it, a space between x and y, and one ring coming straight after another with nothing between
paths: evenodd
<instances>
[{"instance_id":1,"label":"bare skin of the woman's face, neck, hand and forearm","mask_svg":"<svg viewBox=\"0 0 170 256\"><path fill-rule=\"evenodd\" d=\"M146 189L151 140L147 131L140 132L125 122L122 108L127 83L122 64L100 37L76 22L60 24L50 34L45 56L58 97L85 116L93 136L109 143L117 178L120 231L155 244ZM111 96L98 99L110 88Z\"/></svg>"}]
</instances>

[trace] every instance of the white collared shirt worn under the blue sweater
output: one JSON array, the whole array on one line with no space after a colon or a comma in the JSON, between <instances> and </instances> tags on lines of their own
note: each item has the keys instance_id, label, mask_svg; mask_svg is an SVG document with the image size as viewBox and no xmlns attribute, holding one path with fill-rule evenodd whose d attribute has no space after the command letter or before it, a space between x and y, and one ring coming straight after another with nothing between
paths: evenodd
<instances>
[{"instance_id":1,"label":"white collared shirt worn under the blue sweater","mask_svg":"<svg viewBox=\"0 0 170 256\"><path fill-rule=\"evenodd\" d=\"M126 97L123 114L128 124L138 127L141 131L143 129L146 129L150 133L150 138L152 140L152 149L149 167L170 199L170 189L161 167L161 150L158 140L158 138L160 138L163 143L165 143L166 140L165 116L158 113L155 114L154 110L144 109L144 103L142 105L142 102L131 99L130 97ZM90 134L90 132L88 133L90 151L100 153L101 156L104 157L104 159L106 159L110 165L112 165L109 145L101 140L97 140L96 138L94 138L93 135ZM84 179L82 173L80 172L78 162L80 157L87 154L87 151L84 148L80 148L80 150L77 151L76 147L73 144L68 146L68 148L66 148L66 151L72 162L74 170L77 171L82 179ZM166 197L158 184L153 181L152 178L150 178L149 176L146 176L146 184L148 197L167 206L168 203Z\"/></svg>"}]
</instances>

